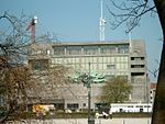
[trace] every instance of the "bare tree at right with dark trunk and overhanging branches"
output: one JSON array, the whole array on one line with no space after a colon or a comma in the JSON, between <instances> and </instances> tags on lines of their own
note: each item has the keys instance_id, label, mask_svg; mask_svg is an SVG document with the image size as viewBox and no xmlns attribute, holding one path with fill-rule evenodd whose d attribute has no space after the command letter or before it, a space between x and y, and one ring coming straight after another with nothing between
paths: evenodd
<instances>
[{"instance_id":1,"label":"bare tree at right with dark trunk and overhanging branches","mask_svg":"<svg viewBox=\"0 0 165 124\"><path fill-rule=\"evenodd\" d=\"M127 32L130 32L140 24L142 16L148 12L157 13L163 30L163 37L165 36L165 1L164 0L110 0L118 11L111 11L114 22L114 29L123 23L127 23ZM117 13L119 12L119 13ZM165 44L163 40L163 49L160 64L160 72L157 80L157 89L154 101L154 111L152 115L152 124L164 124L165 122Z\"/></svg>"}]
</instances>

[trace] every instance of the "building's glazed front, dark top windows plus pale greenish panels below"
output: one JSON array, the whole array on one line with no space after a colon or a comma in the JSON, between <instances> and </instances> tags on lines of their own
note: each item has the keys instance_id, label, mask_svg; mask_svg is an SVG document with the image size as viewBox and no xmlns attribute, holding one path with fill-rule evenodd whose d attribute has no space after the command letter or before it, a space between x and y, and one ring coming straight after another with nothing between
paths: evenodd
<instances>
[{"instance_id":1,"label":"building's glazed front, dark top windows plus pale greenish panels below","mask_svg":"<svg viewBox=\"0 0 165 124\"><path fill-rule=\"evenodd\" d=\"M53 64L88 71L90 63L91 70L110 76L128 77L130 71L129 44L63 45L54 46L53 49Z\"/></svg>"}]
</instances>

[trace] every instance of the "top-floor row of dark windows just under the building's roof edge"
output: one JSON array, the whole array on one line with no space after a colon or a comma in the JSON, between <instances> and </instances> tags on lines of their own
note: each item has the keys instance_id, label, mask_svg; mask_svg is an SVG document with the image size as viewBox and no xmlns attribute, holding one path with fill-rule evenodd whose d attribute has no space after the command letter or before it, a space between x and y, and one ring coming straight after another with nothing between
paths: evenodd
<instances>
[{"instance_id":1,"label":"top-floor row of dark windows just under the building's roof edge","mask_svg":"<svg viewBox=\"0 0 165 124\"><path fill-rule=\"evenodd\" d=\"M105 46L56 46L54 55L97 55L99 54L128 54L129 45L105 45Z\"/></svg>"}]
</instances>

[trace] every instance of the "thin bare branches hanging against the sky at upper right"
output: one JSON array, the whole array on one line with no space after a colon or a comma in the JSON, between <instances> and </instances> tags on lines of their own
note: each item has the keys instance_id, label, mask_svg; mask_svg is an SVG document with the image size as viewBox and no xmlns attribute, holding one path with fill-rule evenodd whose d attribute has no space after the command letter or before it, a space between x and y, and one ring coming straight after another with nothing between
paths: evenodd
<instances>
[{"instance_id":1,"label":"thin bare branches hanging against the sky at upper right","mask_svg":"<svg viewBox=\"0 0 165 124\"><path fill-rule=\"evenodd\" d=\"M142 15L151 12L151 15L156 13L155 5L150 2L150 0L127 0L127 1L116 1L110 0L110 4L113 8L109 8L110 15L112 20L110 21L112 29L117 29L122 24L125 24L125 32L129 33L135 26L140 25ZM114 9L112 11L112 9Z\"/></svg>"}]
</instances>

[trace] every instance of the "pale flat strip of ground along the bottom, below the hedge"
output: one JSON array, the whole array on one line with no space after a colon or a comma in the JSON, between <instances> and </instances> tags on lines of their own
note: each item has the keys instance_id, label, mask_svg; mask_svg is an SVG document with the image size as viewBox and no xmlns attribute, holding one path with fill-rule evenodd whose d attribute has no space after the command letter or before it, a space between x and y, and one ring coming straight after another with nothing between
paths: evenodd
<instances>
[{"instance_id":1,"label":"pale flat strip of ground along the bottom, below the hedge","mask_svg":"<svg viewBox=\"0 0 165 124\"><path fill-rule=\"evenodd\" d=\"M14 121L7 124L88 124L87 119L56 119ZM151 119L95 119L95 124L151 124Z\"/></svg>"}]
</instances>

